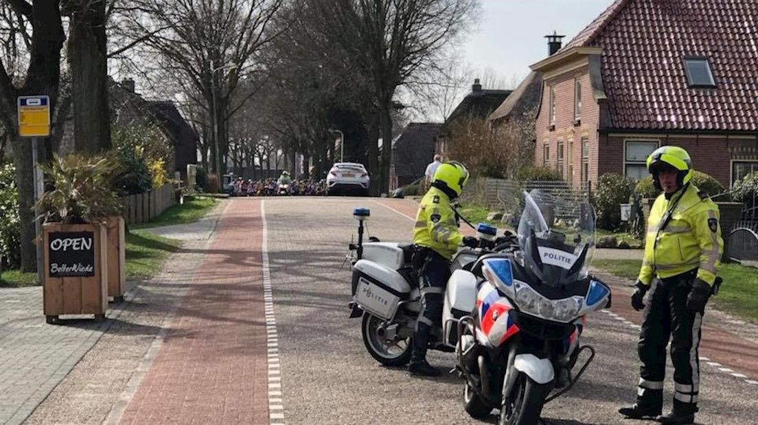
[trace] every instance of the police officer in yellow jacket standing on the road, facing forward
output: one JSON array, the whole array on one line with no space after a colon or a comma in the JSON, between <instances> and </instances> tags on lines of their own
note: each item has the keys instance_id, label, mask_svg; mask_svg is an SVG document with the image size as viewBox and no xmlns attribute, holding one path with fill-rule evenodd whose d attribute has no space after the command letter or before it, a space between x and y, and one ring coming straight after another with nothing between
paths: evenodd
<instances>
[{"instance_id":1,"label":"police officer in yellow jacket standing on the road, facing forward","mask_svg":"<svg viewBox=\"0 0 758 425\"><path fill-rule=\"evenodd\" d=\"M645 309L637 346L642 362L637 403L619 412L661 423L692 423L700 384L700 324L724 246L719 208L692 184L692 161L681 147L655 150L647 158L647 168L663 193L650 210L644 260L631 296L635 310ZM644 296L656 277L646 308ZM662 415L669 338L674 404L669 414Z\"/></svg>"}]
</instances>

